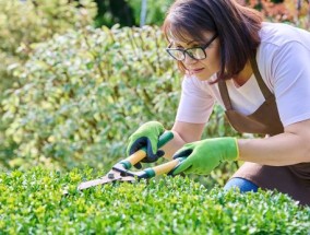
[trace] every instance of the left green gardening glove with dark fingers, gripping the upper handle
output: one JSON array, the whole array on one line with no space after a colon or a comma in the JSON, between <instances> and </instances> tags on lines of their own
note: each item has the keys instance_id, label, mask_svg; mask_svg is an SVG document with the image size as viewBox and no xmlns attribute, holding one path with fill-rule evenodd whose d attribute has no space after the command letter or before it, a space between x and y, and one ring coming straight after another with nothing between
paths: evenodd
<instances>
[{"instance_id":1,"label":"left green gardening glove with dark fingers, gripping the upper handle","mask_svg":"<svg viewBox=\"0 0 310 235\"><path fill-rule=\"evenodd\" d=\"M157 150L157 143L159 137L165 132L164 126L158 121L148 121L142 125L133 134L129 137L129 143L127 146L127 155L131 155L146 146L146 157L141 162L153 163L160 156L165 155L165 152ZM141 168L140 163L134 165L136 168Z\"/></svg>"}]
</instances>

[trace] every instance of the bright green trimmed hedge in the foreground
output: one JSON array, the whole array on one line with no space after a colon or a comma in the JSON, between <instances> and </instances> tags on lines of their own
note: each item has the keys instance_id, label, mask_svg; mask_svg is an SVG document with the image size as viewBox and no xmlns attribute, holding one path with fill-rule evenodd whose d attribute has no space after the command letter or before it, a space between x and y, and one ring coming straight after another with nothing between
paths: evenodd
<instances>
[{"instance_id":1,"label":"bright green trimmed hedge in the foreground","mask_svg":"<svg viewBox=\"0 0 310 235\"><path fill-rule=\"evenodd\" d=\"M1 173L1 234L309 234L310 208L282 193L224 193L180 177L76 191L91 175Z\"/></svg>"}]
</instances>

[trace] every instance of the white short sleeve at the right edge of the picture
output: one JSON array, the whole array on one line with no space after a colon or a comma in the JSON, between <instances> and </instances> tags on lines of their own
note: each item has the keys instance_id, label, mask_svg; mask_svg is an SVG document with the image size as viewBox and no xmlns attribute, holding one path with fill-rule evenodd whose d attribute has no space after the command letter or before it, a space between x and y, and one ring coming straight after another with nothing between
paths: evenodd
<instances>
[{"instance_id":1,"label":"white short sleeve at the right edge of the picture","mask_svg":"<svg viewBox=\"0 0 310 235\"><path fill-rule=\"evenodd\" d=\"M284 45L272 60L274 93L284 126L310 118L310 49L298 42Z\"/></svg>"}]
</instances>

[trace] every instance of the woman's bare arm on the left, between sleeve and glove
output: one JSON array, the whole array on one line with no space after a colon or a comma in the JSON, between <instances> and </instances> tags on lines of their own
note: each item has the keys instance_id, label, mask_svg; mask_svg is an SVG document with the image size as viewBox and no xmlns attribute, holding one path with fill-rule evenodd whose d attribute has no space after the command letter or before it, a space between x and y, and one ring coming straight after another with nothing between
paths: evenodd
<instances>
[{"instance_id":1,"label":"woman's bare arm on the left, between sleeve and glove","mask_svg":"<svg viewBox=\"0 0 310 235\"><path fill-rule=\"evenodd\" d=\"M186 143L200 140L204 124L176 121L171 129L174 139L163 148L165 151L165 158L171 160L175 152Z\"/></svg>"}]
</instances>

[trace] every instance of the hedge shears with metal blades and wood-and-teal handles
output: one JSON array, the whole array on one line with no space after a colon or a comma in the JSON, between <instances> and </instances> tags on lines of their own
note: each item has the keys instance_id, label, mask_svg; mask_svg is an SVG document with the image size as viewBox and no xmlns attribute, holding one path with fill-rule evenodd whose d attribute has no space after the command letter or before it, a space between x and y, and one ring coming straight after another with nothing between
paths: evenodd
<instances>
[{"instance_id":1,"label":"hedge shears with metal blades and wood-and-teal handles","mask_svg":"<svg viewBox=\"0 0 310 235\"><path fill-rule=\"evenodd\" d=\"M165 132L159 137L158 140L158 149L164 146L167 142L169 142L174 138L174 133L170 131ZM90 181L81 183L78 186L78 190L84 190L86 188L95 187L98 185L104 185L114 181L129 181L133 183L135 180L145 178L152 178L155 176L159 176L163 174L170 175L175 168L184 160L184 157L179 157L172 160L170 162L164 163L162 165L150 167L139 172L132 172L130 168L135 165L136 163L141 162L146 156L146 148L142 148L141 150L136 151L132 155L128 156L126 160L122 160L115 164L112 168L108 172L107 175L93 179ZM63 192L64 195L68 191Z\"/></svg>"}]
</instances>

